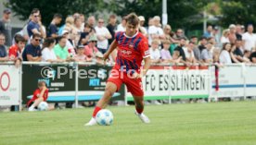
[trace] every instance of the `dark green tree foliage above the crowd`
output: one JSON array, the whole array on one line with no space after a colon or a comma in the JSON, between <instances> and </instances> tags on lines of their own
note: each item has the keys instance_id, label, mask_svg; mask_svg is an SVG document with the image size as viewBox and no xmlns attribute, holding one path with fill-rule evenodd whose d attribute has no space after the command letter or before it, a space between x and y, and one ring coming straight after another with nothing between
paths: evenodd
<instances>
[{"instance_id":1,"label":"dark green tree foliage above the crowd","mask_svg":"<svg viewBox=\"0 0 256 145\"><path fill-rule=\"evenodd\" d=\"M125 16L130 12L161 17L161 0L9 0L10 7L20 19L29 18L32 8L41 10L43 23L48 25L55 13L66 18L75 12L89 15ZM214 23L227 27L231 23L256 23L256 1L253 0L167 0L168 23L173 28L189 29L202 23L202 12L219 18Z\"/></svg>"}]
</instances>

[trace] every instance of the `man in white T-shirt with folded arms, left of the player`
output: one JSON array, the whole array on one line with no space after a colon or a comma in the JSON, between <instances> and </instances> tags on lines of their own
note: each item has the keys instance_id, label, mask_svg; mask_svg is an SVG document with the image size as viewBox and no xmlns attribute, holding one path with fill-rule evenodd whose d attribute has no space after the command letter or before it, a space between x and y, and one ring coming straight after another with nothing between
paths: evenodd
<instances>
[{"instance_id":1,"label":"man in white T-shirt with folded arms, left of the player","mask_svg":"<svg viewBox=\"0 0 256 145\"><path fill-rule=\"evenodd\" d=\"M96 26L97 49L105 54L109 47L109 39L112 38L109 30L104 26L104 19L98 18Z\"/></svg>"}]
</instances>

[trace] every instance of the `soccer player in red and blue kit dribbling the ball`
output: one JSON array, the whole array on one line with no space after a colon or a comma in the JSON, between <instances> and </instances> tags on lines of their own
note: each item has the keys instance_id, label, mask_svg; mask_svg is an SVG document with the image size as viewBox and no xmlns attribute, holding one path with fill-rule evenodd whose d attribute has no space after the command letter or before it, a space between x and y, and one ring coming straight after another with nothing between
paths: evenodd
<instances>
[{"instance_id":1,"label":"soccer player in red and blue kit dribbling the ball","mask_svg":"<svg viewBox=\"0 0 256 145\"><path fill-rule=\"evenodd\" d=\"M107 60L112 51L118 50L116 65L111 70L104 95L96 104L93 117L85 126L96 125L96 113L107 106L112 95L120 90L122 83L134 96L135 115L142 122L150 123L147 115L143 114L144 91L141 80L150 66L148 42L147 38L137 30L139 23L137 16L131 13L126 20L126 30L115 34L115 40L109 46L108 52L104 54L104 60ZM141 66L143 60L145 65Z\"/></svg>"}]
</instances>

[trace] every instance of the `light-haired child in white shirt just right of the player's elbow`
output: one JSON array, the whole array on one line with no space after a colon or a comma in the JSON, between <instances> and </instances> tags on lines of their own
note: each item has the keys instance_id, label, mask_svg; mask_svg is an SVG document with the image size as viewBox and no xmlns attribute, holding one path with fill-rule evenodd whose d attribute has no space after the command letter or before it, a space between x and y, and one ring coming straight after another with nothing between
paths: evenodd
<instances>
[{"instance_id":1,"label":"light-haired child in white shirt just right of the player's elbow","mask_svg":"<svg viewBox=\"0 0 256 145\"><path fill-rule=\"evenodd\" d=\"M151 47L149 49L151 63L159 63L160 62L160 50L159 50L159 41L153 40L151 42Z\"/></svg>"}]
</instances>

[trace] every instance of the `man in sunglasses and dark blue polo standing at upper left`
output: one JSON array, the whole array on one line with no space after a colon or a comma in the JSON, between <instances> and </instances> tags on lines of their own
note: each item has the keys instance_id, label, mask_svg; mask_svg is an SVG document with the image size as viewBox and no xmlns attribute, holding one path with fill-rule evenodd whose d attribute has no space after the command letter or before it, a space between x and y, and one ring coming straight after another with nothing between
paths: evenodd
<instances>
[{"instance_id":1,"label":"man in sunglasses and dark blue polo standing at upper left","mask_svg":"<svg viewBox=\"0 0 256 145\"><path fill-rule=\"evenodd\" d=\"M32 10L32 20L29 22L27 30L29 37L32 36L32 34L39 34L42 35L44 33L43 29L39 25L39 17L40 17L40 11L37 8L34 8Z\"/></svg>"}]
</instances>

